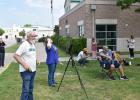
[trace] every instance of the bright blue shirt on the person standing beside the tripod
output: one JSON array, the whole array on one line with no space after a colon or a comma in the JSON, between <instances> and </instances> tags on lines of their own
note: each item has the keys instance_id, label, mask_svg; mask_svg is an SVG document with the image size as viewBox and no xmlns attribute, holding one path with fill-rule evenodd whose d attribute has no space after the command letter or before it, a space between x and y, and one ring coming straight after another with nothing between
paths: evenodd
<instances>
[{"instance_id":1,"label":"bright blue shirt on the person standing beside the tripod","mask_svg":"<svg viewBox=\"0 0 140 100\"><path fill-rule=\"evenodd\" d=\"M57 64L58 63L58 49L55 45L52 45L50 49L46 47L46 64Z\"/></svg>"}]
</instances>

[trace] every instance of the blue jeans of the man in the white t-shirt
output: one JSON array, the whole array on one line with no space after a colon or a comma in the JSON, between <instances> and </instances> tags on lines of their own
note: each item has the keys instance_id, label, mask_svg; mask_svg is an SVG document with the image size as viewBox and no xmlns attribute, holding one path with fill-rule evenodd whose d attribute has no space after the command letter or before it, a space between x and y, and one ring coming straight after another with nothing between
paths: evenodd
<instances>
[{"instance_id":1,"label":"blue jeans of the man in the white t-shirt","mask_svg":"<svg viewBox=\"0 0 140 100\"><path fill-rule=\"evenodd\" d=\"M22 78L22 93L20 100L33 100L33 87L34 87L34 78L36 72L21 72Z\"/></svg>"}]
</instances>

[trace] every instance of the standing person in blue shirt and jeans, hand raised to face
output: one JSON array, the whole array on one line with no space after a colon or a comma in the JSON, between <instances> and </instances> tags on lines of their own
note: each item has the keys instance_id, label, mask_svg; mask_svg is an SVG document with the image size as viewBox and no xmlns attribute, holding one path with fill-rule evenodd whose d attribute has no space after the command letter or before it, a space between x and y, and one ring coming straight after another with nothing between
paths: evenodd
<instances>
[{"instance_id":1,"label":"standing person in blue shirt and jeans, hand raised to face","mask_svg":"<svg viewBox=\"0 0 140 100\"><path fill-rule=\"evenodd\" d=\"M58 63L58 49L57 47L52 43L53 41L50 38L46 39L45 43L45 50L47 54L46 58L46 64L48 65L48 85L55 87L55 70Z\"/></svg>"}]
</instances>

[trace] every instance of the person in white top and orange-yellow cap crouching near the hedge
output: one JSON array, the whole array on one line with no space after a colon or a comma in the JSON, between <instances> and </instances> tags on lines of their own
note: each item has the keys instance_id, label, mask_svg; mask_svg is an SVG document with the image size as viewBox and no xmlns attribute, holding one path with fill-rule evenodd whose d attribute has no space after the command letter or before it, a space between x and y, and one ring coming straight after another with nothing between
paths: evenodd
<instances>
[{"instance_id":1,"label":"person in white top and orange-yellow cap crouching near the hedge","mask_svg":"<svg viewBox=\"0 0 140 100\"><path fill-rule=\"evenodd\" d=\"M88 49L84 48L82 51L79 52L77 61L80 65L85 65L86 63L88 63L87 58L88 58Z\"/></svg>"}]
</instances>

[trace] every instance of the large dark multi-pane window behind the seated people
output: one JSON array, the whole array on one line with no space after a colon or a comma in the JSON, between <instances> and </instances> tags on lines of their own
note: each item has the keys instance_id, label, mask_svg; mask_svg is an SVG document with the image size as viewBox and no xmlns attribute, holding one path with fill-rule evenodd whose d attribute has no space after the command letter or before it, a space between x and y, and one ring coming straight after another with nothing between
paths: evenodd
<instances>
[{"instance_id":1,"label":"large dark multi-pane window behind the seated people","mask_svg":"<svg viewBox=\"0 0 140 100\"><path fill-rule=\"evenodd\" d=\"M97 49L107 45L111 50L116 50L116 25L96 25Z\"/></svg>"}]
</instances>

